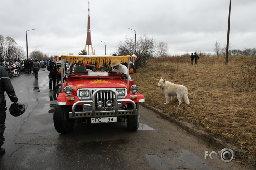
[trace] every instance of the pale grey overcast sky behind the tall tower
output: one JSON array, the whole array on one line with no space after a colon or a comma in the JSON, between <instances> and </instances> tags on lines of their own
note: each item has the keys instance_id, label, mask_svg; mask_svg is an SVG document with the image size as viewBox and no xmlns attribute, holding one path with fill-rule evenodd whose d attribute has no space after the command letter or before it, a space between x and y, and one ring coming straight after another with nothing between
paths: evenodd
<instances>
[{"instance_id":1,"label":"pale grey overcast sky behind the tall tower","mask_svg":"<svg viewBox=\"0 0 256 170\"><path fill-rule=\"evenodd\" d=\"M136 38L145 33L156 43L167 42L170 55L213 52L216 41L227 42L229 2L90 0L92 46L96 55L104 55L106 43L111 55L136 31ZM29 53L76 55L84 49L88 0L0 0L0 7L0 35L14 38L24 51L26 31L34 28L28 31ZM256 0L231 0L230 49L256 48L255 8Z\"/></svg>"}]
</instances>

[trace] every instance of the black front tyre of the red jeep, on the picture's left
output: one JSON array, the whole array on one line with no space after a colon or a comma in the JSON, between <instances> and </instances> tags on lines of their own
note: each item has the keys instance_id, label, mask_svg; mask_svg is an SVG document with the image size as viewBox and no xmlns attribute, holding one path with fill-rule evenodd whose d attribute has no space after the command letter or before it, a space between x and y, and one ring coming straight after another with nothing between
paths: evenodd
<instances>
[{"instance_id":1,"label":"black front tyre of the red jeep, on the picture's left","mask_svg":"<svg viewBox=\"0 0 256 170\"><path fill-rule=\"evenodd\" d=\"M68 118L67 106L56 105L53 113L53 123L57 132L67 134L73 130L75 120Z\"/></svg>"}]
</instances>

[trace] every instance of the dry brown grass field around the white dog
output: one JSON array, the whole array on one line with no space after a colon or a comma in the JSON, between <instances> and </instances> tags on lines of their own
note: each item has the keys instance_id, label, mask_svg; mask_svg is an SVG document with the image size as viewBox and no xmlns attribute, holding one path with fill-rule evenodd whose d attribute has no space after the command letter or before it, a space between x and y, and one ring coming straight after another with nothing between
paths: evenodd
<instances>
[{"instance_id":1,"label":"dry brown grass field around the white dog","mask_svg":"<svg viewBox=\"0 0 256 170\"><path fill-rule=\"evenodd\" d=\"M256 57L154 58L131 75L145 102L178 119L201 126L223 140L256 154ZM188 88L190 105L177 97L165 105L156 87L163 77Z\"/></svg>"}]
</instances>

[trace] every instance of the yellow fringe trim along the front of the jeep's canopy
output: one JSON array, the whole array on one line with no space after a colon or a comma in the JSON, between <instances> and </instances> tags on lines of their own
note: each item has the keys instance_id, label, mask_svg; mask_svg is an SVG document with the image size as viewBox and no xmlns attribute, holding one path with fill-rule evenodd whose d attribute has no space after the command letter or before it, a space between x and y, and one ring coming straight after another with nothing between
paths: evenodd
<instances>
[{"instance_id":1,"label":"yellow fringe trim along the front of the jeep's canopy","mask_svg":"<svg viewBox=\"0 0 256 170\"><path fill-rule=\"evenodd\" d=\"M127 56L97 56L97 55L61 55L61 59L68 60L69 62L75 63L77 60L80 63L88 63L88 64L95 64L95 65L102 65L112 63L113 61L120 61L122 63L128 63L130 60L130 55Z\"/></svg>"}]
</instances>

